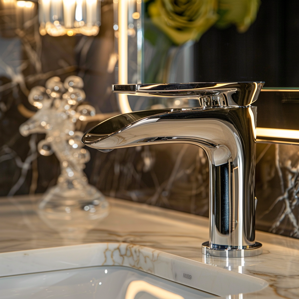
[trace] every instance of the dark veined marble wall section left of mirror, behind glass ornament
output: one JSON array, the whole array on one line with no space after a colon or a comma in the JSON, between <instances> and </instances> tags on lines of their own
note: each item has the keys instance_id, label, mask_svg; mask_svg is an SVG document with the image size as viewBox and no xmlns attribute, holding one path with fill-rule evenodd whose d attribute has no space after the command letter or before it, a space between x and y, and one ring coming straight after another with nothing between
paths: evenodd
<instances>
[{"instance_id":1,"label":"dark veined marble wall section left of mirror, behind glass ornament","mask_svg":"<svg viewBox=\"0 0 299 299\"><path fill-rule=\"evenodd\" d=\"M102 1L97 36L41 36L37 14L22 28L13 16L8 23L7 16L0 5L0 196L41 193L56 184L60 169L54 155L37 154L36 144L44 135L25 138L19 133L20 124L36 111L27 100L28 93L33 86L44 86L50 77L63 81L78 75L84 81L86 103L96 113L118 111L111 91L115 74L108 68L115 52L113 1ZM78 123L78 129L86 128Z\"/></svg>"}]
</instances>

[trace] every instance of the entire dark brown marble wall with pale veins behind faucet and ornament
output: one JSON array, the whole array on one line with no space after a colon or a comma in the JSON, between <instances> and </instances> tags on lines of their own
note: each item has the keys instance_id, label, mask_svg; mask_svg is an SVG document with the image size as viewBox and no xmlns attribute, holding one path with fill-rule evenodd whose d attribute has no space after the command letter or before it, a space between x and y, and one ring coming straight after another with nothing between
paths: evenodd
<instances>
[{"instance_id":1,"label":"entire dark brown marble wall with pale veins behind faucet and ornament","mask_svg":"<svg viewBox=\"0 0 299 299\"><path fill-rule=\"evenodd\" d=\"M40 36L34 17L24 28L6 27L0 15L0 196L43 193L60 173L54 155L37 153L44 135L22 137L19 126L34 112L29 90L45 80L83 78L86 103L97 113L118 112L111 84L115 73L113 1L102 1L97 36ZM86 131L93 123L81 123ZM85 172L108 196L208 216L208 161L187 144L161 144L109 153L89 149ZM299 146L257 144L257 229L299 238Z\"/></svg>"}]
</instances>

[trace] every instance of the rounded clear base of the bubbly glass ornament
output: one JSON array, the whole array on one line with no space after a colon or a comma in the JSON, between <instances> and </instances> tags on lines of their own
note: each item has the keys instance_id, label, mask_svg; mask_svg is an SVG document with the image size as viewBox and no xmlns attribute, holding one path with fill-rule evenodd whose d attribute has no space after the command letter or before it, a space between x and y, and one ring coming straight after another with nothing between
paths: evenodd
<instances>
[{"instance_id":1,"label":"rounded clear base of the bubbly glass ornament","mask_svg":"<svg viewBox=\"0 0 299 299\"><path fill-rule=\"evenodd\" d=\"M94 186L82 182L58 183L46 191L39 217L63 239L81 240L109 213L109 204Z\"/></svg>"}]
</instances>

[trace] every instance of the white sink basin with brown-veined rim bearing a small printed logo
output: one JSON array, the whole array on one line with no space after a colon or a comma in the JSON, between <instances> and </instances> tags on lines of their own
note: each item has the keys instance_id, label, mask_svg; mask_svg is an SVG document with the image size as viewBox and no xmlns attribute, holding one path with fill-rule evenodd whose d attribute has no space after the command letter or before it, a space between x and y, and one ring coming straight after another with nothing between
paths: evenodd
<instances>
[{"instance_id":1,"label":"white sink basin with brown-veined rim bearing a small printed logo","mask_svg":"<svg viewBox=\"0 0 299 299\"><path fill-rule=\"evenodd\" d=\"M268 286L256 277L126 243L2 253L0 276L0 299L213 298Z\"/></svg>"}]
</instances>

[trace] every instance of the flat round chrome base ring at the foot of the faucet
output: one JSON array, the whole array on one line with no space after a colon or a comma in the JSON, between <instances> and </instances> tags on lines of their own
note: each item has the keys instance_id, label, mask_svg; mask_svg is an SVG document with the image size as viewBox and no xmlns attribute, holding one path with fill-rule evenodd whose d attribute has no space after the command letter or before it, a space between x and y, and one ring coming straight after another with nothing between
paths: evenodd
<instances>
[{"instance_id":1,"label":"flat round chrome base ring at the foot of the faucet","mask_svg":"<svg viewBox=\"0 0 299 299\"><path fill-rule=\"evenodd\" d=\"M209 242L204 242L202 243L202 254L214 257L253 257L255 255L260 255L263 252L262 244L259 242L255 242L250 246L243 246L242 249L231 248L225 245L219 247L221 248L213 248L210 247Z\"/></svg>"}]
</instances>

